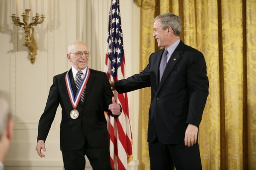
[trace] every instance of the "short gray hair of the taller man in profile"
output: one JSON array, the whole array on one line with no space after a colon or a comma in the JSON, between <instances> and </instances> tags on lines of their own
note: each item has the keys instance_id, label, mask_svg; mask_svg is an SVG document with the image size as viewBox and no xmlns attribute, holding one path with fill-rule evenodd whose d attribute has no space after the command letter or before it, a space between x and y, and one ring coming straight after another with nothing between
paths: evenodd
<instances>
[{"instance_id":1,"label":"short gray hair of the taller man in profile","mask_svg":"<svg viewBox=\"0 0 256 170\"><path fill-rule=\"evenodd\" d=\"M181 33L181 20L180 17L173 14L173 13L164 13L161 15L158 15L155 18L155 21L157 19L160 19L160 26L163 28L163 30L166 30L168 27L171 27L171 29L174 32L175 36L180 36Z\"/></svg>"}]
</instances>

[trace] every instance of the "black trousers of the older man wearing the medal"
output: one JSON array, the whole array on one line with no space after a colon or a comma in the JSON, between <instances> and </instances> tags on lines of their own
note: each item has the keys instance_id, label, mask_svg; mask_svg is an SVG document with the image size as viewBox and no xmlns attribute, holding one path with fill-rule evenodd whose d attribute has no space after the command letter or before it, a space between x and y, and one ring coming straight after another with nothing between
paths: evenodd
<instances>
[{"instance_id":1,"label":"black trousers of the older man wearing the medal","mask_svg":"<svg viewBox=\"0 0 256 170\"><path fill-rule=\"evenodd\" d=\"M85 170L85 155L93 170L112 170L109 147L92 147L85 139L81 150L62 151L65 170Z\"/></svg>"}]
</instances>

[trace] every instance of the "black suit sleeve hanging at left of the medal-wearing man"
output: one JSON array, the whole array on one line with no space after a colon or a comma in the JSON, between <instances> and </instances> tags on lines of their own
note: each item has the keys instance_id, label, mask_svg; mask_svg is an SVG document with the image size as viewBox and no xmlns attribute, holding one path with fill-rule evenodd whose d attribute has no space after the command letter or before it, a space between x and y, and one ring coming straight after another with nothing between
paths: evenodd
<instances>
[{"instance_id":1,"label":"black suit sleeve hanging at left of the medal-wearing man","mask_svg":"<svg viewBox=\"0 0 256 170\"><path fill-rule=\"evenodd\" d=\"M59 103L60 96L58 91L58 81L56 77L53 77L53 85L50 88L45 110L39 120L37 140L46 140Z\"/></svg>"}]
</instances>

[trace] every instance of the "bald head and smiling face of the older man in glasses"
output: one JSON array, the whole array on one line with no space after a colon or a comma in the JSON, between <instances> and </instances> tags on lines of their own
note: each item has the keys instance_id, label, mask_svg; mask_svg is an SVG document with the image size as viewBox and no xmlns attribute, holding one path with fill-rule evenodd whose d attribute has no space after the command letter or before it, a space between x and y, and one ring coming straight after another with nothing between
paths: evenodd
<instances>
[{"instance_id":1,"label":"bald head and smiling face of the older man in glasses","mask_svg":"<svg viewBox=\"0 0 256 170\"><path fill-rule=\"evenodd\" d=\"M78 57L76 54L70 54L70 53L77 53L77 52L84 52L84 51L88 51L88 48L86 44L81 41L76 41L72 43L68 48L69 54L67 55L67 57L69 61L72 62L73 67L78 71L81 71L86 68L89 57L86 57L84 53L82 57Z\"/></svg>"}]
</instances>

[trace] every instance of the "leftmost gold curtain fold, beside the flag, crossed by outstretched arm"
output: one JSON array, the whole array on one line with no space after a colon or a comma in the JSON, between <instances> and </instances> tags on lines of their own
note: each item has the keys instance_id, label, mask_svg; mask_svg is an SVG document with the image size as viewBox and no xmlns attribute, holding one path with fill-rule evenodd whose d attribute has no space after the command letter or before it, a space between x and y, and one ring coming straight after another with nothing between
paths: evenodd
<instances>
[{"instance_id":1,"label":"leftmost gold curtain fold, beside the flag, crossed by outstretched arm","mask_svg":"<svg viewBox=\"0 0 256 170\"><path fill-rule=\"evenodd\" d=\"M153 24L155 17L155 0L141 0L141 57L140 67L143 69L148 64L148 57L155 51L155 39L152 37ZM152 19L153 18L153 19ZM143 38L142 38L143 37ZM142 170L150 170L150 161L148 153L147 132L148 132L148 112L151 101L151 89L144 88L140 90L140 113L141 113L141 131L142 131L142 147L141 147L141 168Z\"/></svg>"}]
</instances>

